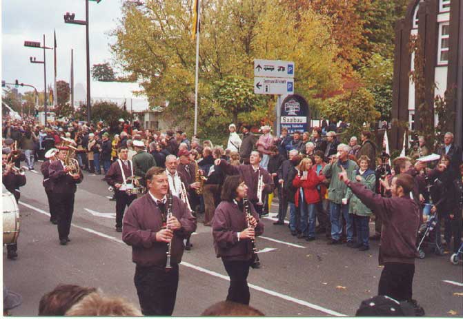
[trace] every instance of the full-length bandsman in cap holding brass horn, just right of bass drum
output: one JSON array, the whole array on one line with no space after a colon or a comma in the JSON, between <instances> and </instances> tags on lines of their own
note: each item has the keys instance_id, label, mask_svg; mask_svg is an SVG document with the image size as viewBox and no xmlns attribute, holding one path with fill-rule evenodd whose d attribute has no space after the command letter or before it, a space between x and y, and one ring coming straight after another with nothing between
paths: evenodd
<instances>
[{"instance_id":1,"label":"full-length bandsman in cap holding brass horn, just right of bass drum","mask_svg":"<svg viewBox=\"0 0 463 319\"><path fill-rule=\"evenodd\" d=\"M56 203L59 244L66 245L70 241L69 232L74 212L76 184L81 183L83 175L82 171L79 171L79 174L70 174L70 168L64 163L68 147L60 146L58 149L58 160L50 163L48 176L52 181L53 198Z\"/></svg>"}]
</instances>

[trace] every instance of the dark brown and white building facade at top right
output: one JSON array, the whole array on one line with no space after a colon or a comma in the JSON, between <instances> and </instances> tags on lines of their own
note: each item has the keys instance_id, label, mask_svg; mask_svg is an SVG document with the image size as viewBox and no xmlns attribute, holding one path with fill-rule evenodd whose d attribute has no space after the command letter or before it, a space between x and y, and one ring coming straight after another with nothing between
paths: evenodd
<instances>
[{"instance_id":1,"label":"dark brown and white building facade at top right","mask_svg":"<svg viewBox=\"0 0 463 319\"><path fill-rule=\"evenodd\" d=\"M415 54L410 39L419 35L424 55L424 100L417 96L410 72L415 69ZM408 123L408 130L420 129L418 105L426 102L434 114L434 99L453 92L451 111L455 114L455 143L463 141L463 0L412 0L404 19L395 26L393 77L393 122ZM434 124L437 117L434 116ZM391 146L402 148L404 128L393 125Z\"/></svg>"}]
</instances>

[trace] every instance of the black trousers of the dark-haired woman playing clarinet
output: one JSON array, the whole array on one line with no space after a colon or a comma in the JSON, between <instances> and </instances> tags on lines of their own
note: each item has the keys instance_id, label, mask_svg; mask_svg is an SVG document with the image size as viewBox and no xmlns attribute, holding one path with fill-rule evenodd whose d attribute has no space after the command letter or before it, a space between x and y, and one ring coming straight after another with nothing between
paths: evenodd
<instances>
[{"instance_id":1,"label":"black trousers of the dark-haired woman playing clarinet","mask_svg":"<svg viewBox=\"0 0 463 319\"><path fill-rule=\"evenodd\" d=\"M226 300L249 305L250 293L248 287L248 274L250 260L227 261L222 259L225 270L230 277L230 287Z\"/></svg>"}]
</instances>

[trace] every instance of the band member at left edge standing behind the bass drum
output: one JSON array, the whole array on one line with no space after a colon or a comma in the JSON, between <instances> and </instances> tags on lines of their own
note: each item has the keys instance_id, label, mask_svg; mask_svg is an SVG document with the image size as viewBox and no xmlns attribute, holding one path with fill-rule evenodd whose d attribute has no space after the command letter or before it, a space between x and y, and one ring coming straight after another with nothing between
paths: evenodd
<instances>
[{"instance_id":1,"label":"band member at left edge standing behind the bass drum","mask_svg":"<svg viewBox=\"0 0 463 319\"><path fill-rule=\"evenodd\" d=\"M19 197L21 193L19 192L19 187L26 185L26 176L24 173L19 172L19 169L14 167L14 163L8 163L8 155L10 154L10 150L8 148L4 148L1 152L1 165L2 165L2 172L3 172L3 185L5 188L8 189L8 192L13 194L14 198L16 199L16 203L19 201ZM6 245L8 259L16 259L18 256L17 253L18 244L12 243Z\"/></svg>"}]
</instances>

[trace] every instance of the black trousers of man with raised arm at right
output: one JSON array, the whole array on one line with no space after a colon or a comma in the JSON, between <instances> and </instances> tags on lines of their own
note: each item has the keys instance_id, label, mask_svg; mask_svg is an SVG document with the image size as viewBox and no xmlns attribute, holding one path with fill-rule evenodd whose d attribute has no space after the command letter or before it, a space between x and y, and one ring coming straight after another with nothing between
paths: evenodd
<instances>
[{"instance_id":1,"label":"black trousers of man with raised arm at right","mask_svg":"<svg viewBox=\"0 0 463 319\"><path fill-rule=\"evenodd\" d=\"M415 264L384 263L378 295L397 301L410 301L413 294Z\"/></svg>"}]
</instances>

